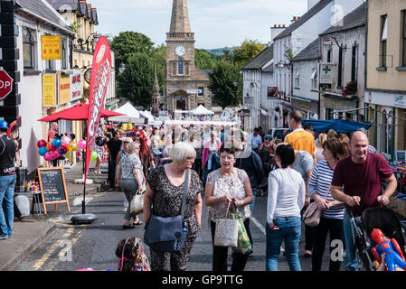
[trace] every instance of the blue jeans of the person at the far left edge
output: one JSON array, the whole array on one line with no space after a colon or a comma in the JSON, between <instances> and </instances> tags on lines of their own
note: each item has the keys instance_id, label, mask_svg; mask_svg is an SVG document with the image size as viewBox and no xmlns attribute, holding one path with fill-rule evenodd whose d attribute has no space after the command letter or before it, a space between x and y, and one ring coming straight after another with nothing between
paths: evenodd
<instances>
[{"instance_id":1,"label":"blue jeans of the person at the far left edge","mask_svg":"<svg viewBox=\"0 0 406 289\"><path fill-rule=\"evenodd\" d=\"M0 176L0 237L11 238L13 232L15 181L15 174Z\"/></svg>"}]
</instances>

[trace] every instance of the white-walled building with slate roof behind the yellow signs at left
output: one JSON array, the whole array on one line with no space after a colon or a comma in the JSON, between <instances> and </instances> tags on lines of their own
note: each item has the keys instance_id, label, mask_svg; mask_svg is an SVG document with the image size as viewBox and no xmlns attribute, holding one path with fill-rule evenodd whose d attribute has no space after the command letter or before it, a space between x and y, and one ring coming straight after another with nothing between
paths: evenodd
<instances>
[{"instance_id":1,"label":"white-walled building with slate roof behind the yellow signs at left","mask_svg":"<svg viewBox=\"0 0 406 289\"><path fill-rule=\"evenodd\" d=\"M46 1L18 0L16 4L18 5L16 23L19 29L17 48L20 51L17 63L21 78L18 86L21 94L19 108L22 116L20 159L28 168L28 172L33 172L43 160L38 154L37 142L42 138L46 139L49 129L48 123L39 122L38 119L58 109L60 100L58 79L60 74L69 79L69 75L64 75L64 72L71 69L71 39L74 33L61 15ZM62 60L42 61L42 35L61 35ZM57 99L55 105L50 108L44 108L42 103L43 74L55 76L54 89Z\"/></svg>"}]
</instances>

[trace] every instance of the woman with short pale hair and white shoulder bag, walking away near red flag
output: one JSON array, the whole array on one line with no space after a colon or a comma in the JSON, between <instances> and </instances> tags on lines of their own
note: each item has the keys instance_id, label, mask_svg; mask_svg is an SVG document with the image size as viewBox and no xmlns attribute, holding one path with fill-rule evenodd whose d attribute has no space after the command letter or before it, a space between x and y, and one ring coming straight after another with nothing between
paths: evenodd
<instances>
[{"instance_id":1,"label":"woman with short pale hair and white shoulder bag, walking away near red flag","mask_svg":"<svg viewBox=\"0 0 406 289\"><path fill-rule=\"evenodd\" d=\"M126 194L128 203L131 204L133 197L146 189L146 179L143 172L143 166L139 159L140 144L130 143L127 144L127 154L121 157L118 163L117 172L120 176L118 178L118 186ZM142 222L138 217L134 218L134 222L130 224L131 219L131 206L128 206L127 212L124 215L123 228L134 228L134 225L141 225Z\"/></svg>"}]
</instances>

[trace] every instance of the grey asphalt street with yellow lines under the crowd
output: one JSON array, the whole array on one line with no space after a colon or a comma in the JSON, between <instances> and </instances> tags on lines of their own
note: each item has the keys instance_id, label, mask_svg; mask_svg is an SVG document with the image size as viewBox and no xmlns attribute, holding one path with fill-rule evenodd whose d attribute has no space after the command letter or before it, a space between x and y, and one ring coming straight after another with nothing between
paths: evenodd
<instances>
[{"instance_id":1,"label":"grey asphalt street with yellow lines under the crowd","mask_svg":"<svg viewBox=\"0 0 406 289\"><path fill-rule=\"evenodd\" d=\"M79 197L80 198L80 197ZM96 270L117 270L118 257L115 250L118 240L130 236L143 238L144 225L124 230L123 195L121 192L101 193L91 199L87 212L98 216L90 225L71 225L72 214L81 211L79 199L72 200L71 214L57 214L53 220L58 222L58 229L42 247L28 256L15 268L17 271L72 271L92 267ZM250 228L254 239L254 254L250 256L246 271L263 271L265 269L265 224L266 197L257 199L256 208L251 219ZM59 209L63 211L63 208ZM142 217L141 217L142 219ZM303 238L302 238L303 239ZM303 257L304 242L300 243L300 262L304 271L311 270L311 259ZM149 256L149 249L146 247ZM324 261L324 270L328 262ZM288 271L285 256L279 258L279 270ZM229 254L229 268L231 254ZM344 269L344 266L342 267ZM203 227L196 240L188 266L189 271L212 270L212 239L207 222L207 208L203 206Z\"/></svg>"}]
</instances>

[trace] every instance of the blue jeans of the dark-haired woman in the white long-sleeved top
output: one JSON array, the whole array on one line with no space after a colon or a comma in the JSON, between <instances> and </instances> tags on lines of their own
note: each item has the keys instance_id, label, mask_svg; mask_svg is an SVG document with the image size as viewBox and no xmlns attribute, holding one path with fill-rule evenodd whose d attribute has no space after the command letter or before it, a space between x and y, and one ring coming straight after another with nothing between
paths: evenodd
<instances>
[{"instance_id":1,"label":"blue jeans of the dark-haired woman in the white long-sleeved top","mask_svg":"<svg viewBox=\"0 0 406 289\"><path fill-rule=\"evenodd\" d=\"M279 229L271 230L268 223L265 225L267 230L266 270L278 271L280 246L285 241L285 255L290 271L301 271L302 268L298 256L298 245L301 235L300 218L276 218L273 222Z\"/></svg>"}]
</instances>

